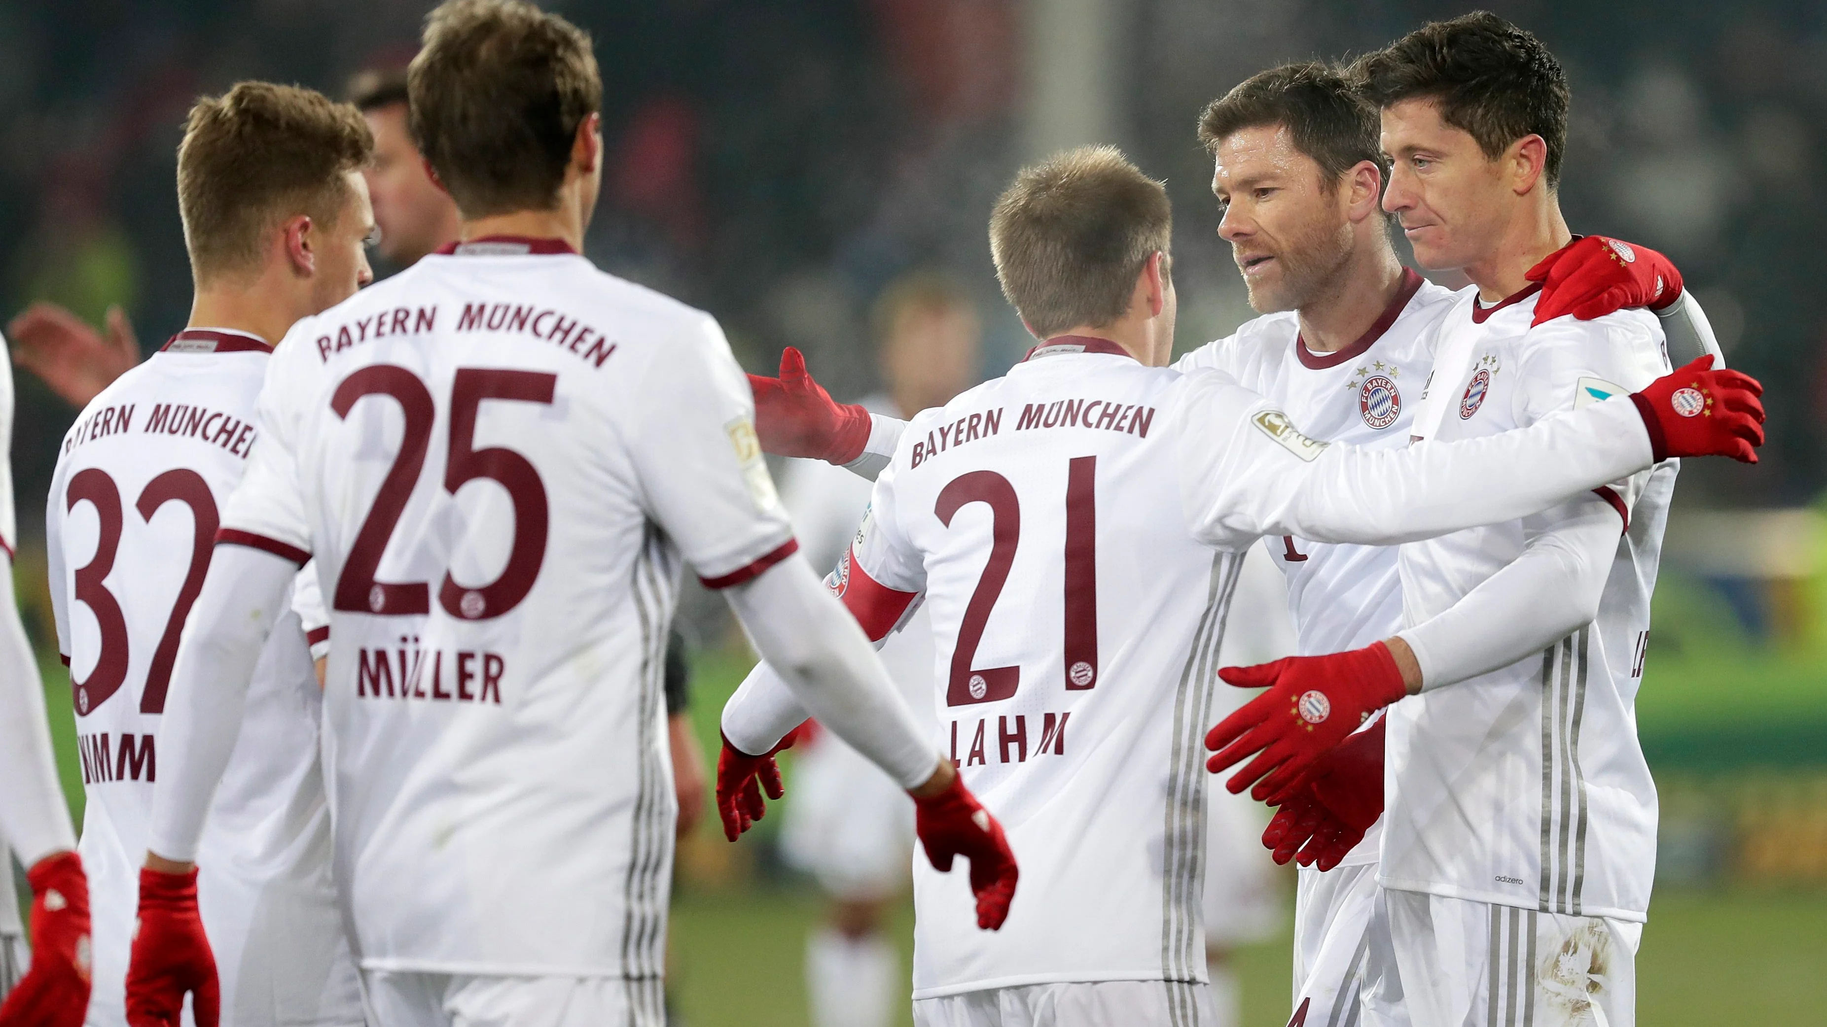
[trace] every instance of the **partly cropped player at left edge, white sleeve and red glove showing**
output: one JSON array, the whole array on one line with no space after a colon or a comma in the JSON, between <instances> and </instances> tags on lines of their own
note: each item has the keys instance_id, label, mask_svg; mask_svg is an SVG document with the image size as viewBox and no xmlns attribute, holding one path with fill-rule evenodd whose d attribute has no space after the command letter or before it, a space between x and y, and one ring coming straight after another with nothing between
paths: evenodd
<instances>
[{"instance_id":1,"label":"partly cropped player at left edge, white sleeve and red glove showing","mask_svg":"<svg viewBox=\"0 0 1827 1027\"><path fill-rule=\"evenodd\" d=\"M0 353L0 550L13 566L13 369ZM0 925L29 926L31 956L0 936L0 1027L75 1027L90 1005L90 883L51 757L38 662L11 590L0 599ZM31 883L31 923L18 925L16 855ZM15 934L15 932L7 932ZM29 959L29 969L26 961ZM22 978L13 974L24 972Z\"/></svg>"}]
</instances>

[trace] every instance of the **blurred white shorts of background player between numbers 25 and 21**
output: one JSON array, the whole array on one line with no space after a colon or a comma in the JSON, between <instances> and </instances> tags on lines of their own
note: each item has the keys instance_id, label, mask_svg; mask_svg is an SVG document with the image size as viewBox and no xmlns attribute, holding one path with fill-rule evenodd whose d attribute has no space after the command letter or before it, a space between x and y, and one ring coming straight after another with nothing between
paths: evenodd
<instances>
[{"instance_id":1,"label":"blurred white shorts of background player between numbers 25 and 21","mask_svg":"<svg viewBox=\"0 0 1827 1027\"><path fill-rule=\"evenodd\" d=\"M839 899L886 899L914 866L914 800L837 735L795 749L780 850Z\"/></svg>"}]
</instances>

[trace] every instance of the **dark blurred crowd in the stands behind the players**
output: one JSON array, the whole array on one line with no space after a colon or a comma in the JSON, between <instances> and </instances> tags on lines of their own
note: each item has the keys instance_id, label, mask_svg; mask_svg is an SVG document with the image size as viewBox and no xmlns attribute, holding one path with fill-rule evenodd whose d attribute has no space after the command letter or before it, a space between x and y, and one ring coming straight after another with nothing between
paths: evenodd
<instances>
[{"instance_id":1,"label":"dark blurred crowd in the stands behind the players","mask_svg":"<svg viewBox=\"0 0 1827 1027\"><path fill-rule=\"evenodd\" d=\"M121 305L150 349L190 305L174 199L179 122L245 77L340 93L404 64L420 0L13 0L0 5L0 307ZM1018 0L568 0L596 37L610 161L588 252L713 311L764 369L808 351L833 391L873 386L866 311L910 269L979 296L985 373L1023 349L990 272L985 219L1034 157L1036 82L1078 102L1178 214L1182 347L1250 316L1217 239L1200 106L1264 66L1379 46L1465 4L1432 0L1072 0L1105 38L1083 68ZM1827 482L1827 7L1811 0L1493 4L1573 79L1564 206L1577 232L1668 252L1732 364L1770 387L1756 470L1705 468L1683 501L1805 504ZM1063 66L1054 66L1060 60ZM387 269L378 269L382 274ZM20 380L13 440L31 526L73 409Z\"/></svg>"}]
</instances>

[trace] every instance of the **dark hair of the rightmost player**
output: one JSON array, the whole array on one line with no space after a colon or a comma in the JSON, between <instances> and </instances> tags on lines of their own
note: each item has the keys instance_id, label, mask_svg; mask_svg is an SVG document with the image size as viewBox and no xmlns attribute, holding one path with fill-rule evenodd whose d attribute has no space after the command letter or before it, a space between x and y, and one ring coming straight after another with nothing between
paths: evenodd
<instances>
[{"instance_id":1,"label":"dark hair of the rightmost player","mask_svg":"<svg viewBox=\"0 0 1827 1027\"><path fill-rule=\"evenodd\" d=\"M1511 143L1547 143L1547 185L1560 183L1568 148L1568 75L1535 35L1474 11L1420 29L1368 53L1352 68L1365 99L1379 108L1409 99L1440 104L1447 124L1496 159Z\"/></svg>"}]
</instances>

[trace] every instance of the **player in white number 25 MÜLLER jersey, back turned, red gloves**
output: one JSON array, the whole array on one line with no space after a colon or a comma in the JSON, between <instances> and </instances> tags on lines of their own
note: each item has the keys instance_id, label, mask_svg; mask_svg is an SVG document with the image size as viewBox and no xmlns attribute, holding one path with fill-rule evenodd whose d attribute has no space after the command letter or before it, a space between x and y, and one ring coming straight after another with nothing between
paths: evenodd
<instances>
[{"instance_id":1,"label":"player in white number 25 M\u00dcLLER jersey, back turned, red gloves","mask_svg":"<svg viewBox=\"0 0 1827 1027\"><path fill-rule=\"evenodd\" d=\"M795 556L716 322L576 252L603 166L588 37L457 0L428 16L409 82L464 243L298 322L270 358L172 676L148 875L192 872L247 680L314 556L369 1020L660 1023L660 683L691 563L818 718L915 793L928 855L970 861L996 926L1016 884L1001 828ZM141 903L135 1023L210 978L195 906Z\"/></svg>"}]
</instances>

